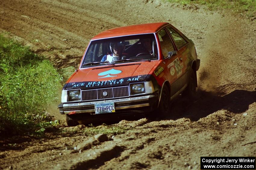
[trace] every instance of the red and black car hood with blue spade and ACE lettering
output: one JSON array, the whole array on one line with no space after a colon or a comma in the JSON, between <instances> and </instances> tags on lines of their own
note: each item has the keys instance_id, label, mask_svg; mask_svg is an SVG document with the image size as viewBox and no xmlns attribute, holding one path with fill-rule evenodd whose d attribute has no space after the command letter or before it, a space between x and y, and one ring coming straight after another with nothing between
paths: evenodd
<instances>
[{"instance_id":1,"label":"red and black car hood with blue spade and ACE lettering","mask_svg":"<svg viewBox=\"0 0 256 170\"><path fill-rule=\"evenodd\" d=\"M148 74L157 63L158 61L143 61L81 69L69 79L64 85L64 89L81 88L86 90L147 81Z\"/></svg>"}]
</instances>

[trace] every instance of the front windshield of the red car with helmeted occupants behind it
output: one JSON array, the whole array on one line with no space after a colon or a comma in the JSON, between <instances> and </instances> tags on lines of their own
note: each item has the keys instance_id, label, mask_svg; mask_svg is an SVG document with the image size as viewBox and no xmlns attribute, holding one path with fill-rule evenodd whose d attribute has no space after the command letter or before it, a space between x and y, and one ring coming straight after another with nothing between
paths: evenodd
<instances>
[{"instance_id":1,"label":"front windshield of the red car with helmeted occupants behind it","mask_svg":"<svg viewBox=\"0 0 256 170\"><path fill-rule=\"evenodd\" d=\"M116 37L92 41L82 68L156 59L158 50L154 34Z\"/></svg>"}]
</instances>

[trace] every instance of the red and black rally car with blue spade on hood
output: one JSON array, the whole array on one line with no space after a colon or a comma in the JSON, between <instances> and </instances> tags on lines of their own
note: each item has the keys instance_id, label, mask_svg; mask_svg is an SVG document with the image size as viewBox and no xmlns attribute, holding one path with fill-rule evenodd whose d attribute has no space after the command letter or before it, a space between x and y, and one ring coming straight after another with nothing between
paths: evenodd
<instances>
[{"instance_id":1,"label":"red and black rally car with blue spade on hood","mask_svg":"<svg viewBox=\"0 0 256 170\"><path fill-rule=\"evenodd\" d=\"M89 42L58 108L68 125L124 114L166 114L174 97L195 94L199 66L192 40L167 22L112 28Z\"/></svg>"}]
</instances>

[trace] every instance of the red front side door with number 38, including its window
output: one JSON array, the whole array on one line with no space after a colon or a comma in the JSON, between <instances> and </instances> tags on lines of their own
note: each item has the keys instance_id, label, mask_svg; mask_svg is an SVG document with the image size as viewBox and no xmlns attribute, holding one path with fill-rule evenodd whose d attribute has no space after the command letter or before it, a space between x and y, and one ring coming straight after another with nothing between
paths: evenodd
<instances>
[{"instance_id":1,"label":"red front side door with number 38, including its window","mask_svg":"<svg viewBox=\"0 0 256 170\"><path fill-rule=\"evenodd\" d=\"M176 49L165 28L158 31L158 38L163 54L166 79L170 82L171 96L173 96L183 87L182 54L177 52L177 55L168 56L169 52L174 52Z\"/></svg>"}]
</instances>

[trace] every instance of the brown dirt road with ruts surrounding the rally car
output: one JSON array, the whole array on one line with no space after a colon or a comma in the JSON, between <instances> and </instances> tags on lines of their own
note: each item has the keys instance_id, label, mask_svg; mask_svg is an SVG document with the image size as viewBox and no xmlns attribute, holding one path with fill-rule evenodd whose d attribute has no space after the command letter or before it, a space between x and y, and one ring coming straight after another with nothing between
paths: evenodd
<instances>
[{"instance_id":1,"label":"brown dirt road with ruts surrounding the rally car","mask_svg":"<svg viewBox=\"0 0 256 170\"><path fill-rule=\"evenodd\" d=\"M162 120L120 121L113 126L126 133L92 141L81 153L74 147L92 140L82 125L43 138L0 139L0 169L199 169L201 156L256 155L254 21L156 0L0 1L0 31L58 68L78 64L95 34L145 22L170 22L194 41L198 101L186 106L178 97Z\"/></svg>"}]
</instances>

